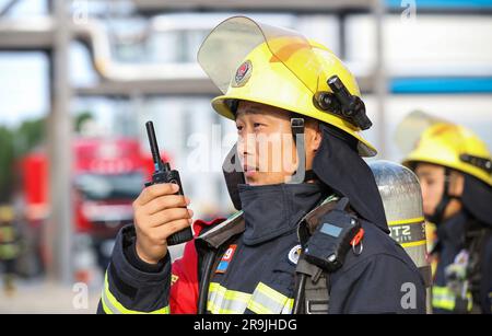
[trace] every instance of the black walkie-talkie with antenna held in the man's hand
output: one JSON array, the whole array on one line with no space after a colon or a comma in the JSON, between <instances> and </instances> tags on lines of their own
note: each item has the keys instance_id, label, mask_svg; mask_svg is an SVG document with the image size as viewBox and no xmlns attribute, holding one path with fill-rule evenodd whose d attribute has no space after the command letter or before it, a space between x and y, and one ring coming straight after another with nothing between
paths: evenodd
<instances>
[{"instance_id":1,"label":"black walkie-talkie with antenna held in the man's hand","mask_svg":"<svg viewBox=\"0 0 492 336\"><path fill-rule=\"evenodd\" d=\"M183 193L181 179L179 173L176 170L172 170L168 162L164 162L161 159L159 152L157 140L155 138L154 124L152 121L145 123L147 135L149 137L149 143L152 152L152 160L154 161L154 173L152 174L152 181L145 183L145 187L157 183L174 183L179 186L179 190L176 195L185 195ZM192 240L194 233L191 228L183 229L167 237L167 245L177 245Z\"/></svg>"}]
</instances>

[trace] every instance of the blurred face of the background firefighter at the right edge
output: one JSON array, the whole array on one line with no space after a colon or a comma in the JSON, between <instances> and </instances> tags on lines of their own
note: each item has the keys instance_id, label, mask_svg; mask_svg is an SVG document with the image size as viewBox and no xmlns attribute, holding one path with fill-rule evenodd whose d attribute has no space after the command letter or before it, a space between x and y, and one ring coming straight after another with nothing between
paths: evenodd
<instances>
[{"instance_id":1,"label":"blurred face of the background firefighter at the right edge","mask_svg":"<svg viewBox=\"0 0 492 336\"><path fill-rule=\"evenodd\" d=\"M446 178L445 169L435 164L418 163L415 174L419 177L420 186L422 188L424 215L432 216L443 198ZM464 187L462 174L452 171L449 178L449 195L460 196ZM448 217L446 216L446 212L445 218Z\"/></svg>"}]
</instances>

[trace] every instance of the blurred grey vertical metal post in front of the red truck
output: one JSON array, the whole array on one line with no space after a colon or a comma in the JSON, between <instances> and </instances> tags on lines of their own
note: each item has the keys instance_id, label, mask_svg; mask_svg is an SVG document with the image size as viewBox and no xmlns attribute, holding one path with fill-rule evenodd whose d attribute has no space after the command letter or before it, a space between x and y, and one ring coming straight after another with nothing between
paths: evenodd
<instances>
[{"instance_id":1,"label":"blurred grey vertical metal post in front of the red truck","mask_svg":"<svg viewBox=\"0 0 492 336\"><path fill-rule=\"evenodd\" d=\"M48 153L50 213L45 236L48 240L48 276L62 283L72 281L72 148L71 148L71 89L69 74L69 45L71 40L67 1L54 1L56 18L54 57L51 58L51 112L48 118Z\"/></svg>"}]
</instances>

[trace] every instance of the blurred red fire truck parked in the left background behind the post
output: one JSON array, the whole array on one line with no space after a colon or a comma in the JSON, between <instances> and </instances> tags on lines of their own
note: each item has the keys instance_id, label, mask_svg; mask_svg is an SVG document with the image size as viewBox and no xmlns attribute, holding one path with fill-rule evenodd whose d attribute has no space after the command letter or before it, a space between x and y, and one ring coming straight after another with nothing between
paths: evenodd
<instances>
[{"instance_id":1,"label":"blurred red fire truck parked in the left background behind the post","mask_svg":"<svg viewBox=\"0 0 492 336\"><path fill-rule=\"evenodd\" d=\"M73 201L75 268L84 263L77 253L86 253L87 246L98 266L105 268L117 232L132 221L132 201L151 178L152 158L133 138L79 138L72 148L72 195L67 197ZM26 245L30 262L35 264L31 268L37 271L49 263L44 235L49 216L48 170L43 150L33 151L20 162Z\"/></svg>"}]
</instances>

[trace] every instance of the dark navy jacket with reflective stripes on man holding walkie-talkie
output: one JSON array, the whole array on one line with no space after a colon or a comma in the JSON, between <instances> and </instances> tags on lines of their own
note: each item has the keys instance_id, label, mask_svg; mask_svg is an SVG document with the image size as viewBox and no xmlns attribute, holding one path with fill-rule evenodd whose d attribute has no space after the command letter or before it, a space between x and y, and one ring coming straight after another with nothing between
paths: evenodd
<instances>
[{"instance_id":1,"label":"dark navy jacket with reflective stripes on man holding walkie-talkie","mask_svg":"<svg viewBox=\"0 0 492 336\"><path fill-rule=\"evenodd\" d=\"M243 199L245 212L208 227L173 266L168 256L157 266L139 260L134 229L122 229L98 312L195 313L201 302L208 313L291 313L297 222L314 207L313 195L303 209L305 190L292 189L276 194L279 201L294 195L281 220L257 217L274 212L278 201L261 201L250 217ZM379 227L362 220L362 254L349 251L331 275L329 313L425 313L424 281L413 262Z\"/></svg>"}]
</instances>

